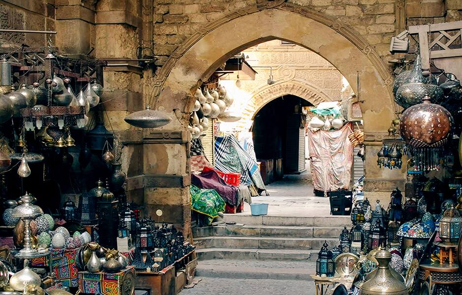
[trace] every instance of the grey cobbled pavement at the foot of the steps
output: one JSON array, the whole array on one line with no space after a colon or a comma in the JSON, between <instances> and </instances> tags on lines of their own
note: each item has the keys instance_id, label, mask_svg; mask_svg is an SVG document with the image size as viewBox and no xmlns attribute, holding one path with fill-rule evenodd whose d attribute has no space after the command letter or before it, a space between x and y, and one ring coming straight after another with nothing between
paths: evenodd
<instances>
[{"instance_id":1,"label":"grey cobbled pavement at the foot of the steps","mask_svg":"<svg viewBox=\"0 0 462 295\"><path fill-rule=\"evenodd\" d=\"M313 281L202 278L180 295L314 295Z\"/></svg>"}]
</instances>

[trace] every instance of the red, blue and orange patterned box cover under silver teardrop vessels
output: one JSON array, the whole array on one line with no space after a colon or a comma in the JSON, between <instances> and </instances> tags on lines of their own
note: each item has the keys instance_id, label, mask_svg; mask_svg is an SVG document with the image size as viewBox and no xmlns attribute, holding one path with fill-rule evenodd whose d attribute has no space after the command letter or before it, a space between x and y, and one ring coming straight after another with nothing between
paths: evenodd
<instances>
[{"instance_id":1,"label":"red, blue and orange patterned box cover under silver teardrop vessels","mask_svg":"<svg viewBox=\"0 0 462 295\"><path fill-rule=\"evenodd\" d=\"M106 272L79 272L79 292L86 294L120 295L119 286L125 273L132 272L135 276L135 267L128 266L117 273Z\"/></svg>"}]
</instances>

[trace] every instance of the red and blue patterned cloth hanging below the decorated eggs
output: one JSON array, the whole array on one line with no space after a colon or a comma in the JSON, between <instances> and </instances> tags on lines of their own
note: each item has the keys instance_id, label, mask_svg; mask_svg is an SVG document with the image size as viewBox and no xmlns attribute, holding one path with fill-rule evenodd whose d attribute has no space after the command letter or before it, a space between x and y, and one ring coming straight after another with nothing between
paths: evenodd
<instances>
[{"instance_id":1,"label":"red and blue patterned cloth hanging below the decorated eggs","mask_svg":"<svg viewBox=\"0 0 462 295\"><path fill-rule=\"evenodd\" d=\"M56 278L65 287L77 287L79 270L75 264L77 249L50 249ZM48 256L33 258L32 266L48 266Z\"/></svg>"}]
</instances>

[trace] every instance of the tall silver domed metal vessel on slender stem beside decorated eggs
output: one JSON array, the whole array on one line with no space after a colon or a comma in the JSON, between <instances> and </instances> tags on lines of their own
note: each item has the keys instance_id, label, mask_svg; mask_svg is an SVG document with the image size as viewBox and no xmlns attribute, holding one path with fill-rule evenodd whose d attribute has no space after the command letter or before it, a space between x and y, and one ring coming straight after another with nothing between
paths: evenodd
<instances>
[{"instance_id":1,"label":"tall silver domed metal vessel on slender stem beside decorated eggs","mask_svg":"<svg viewBox=\"0 0 462 295\"><path fill-rule=\"evenodd\" d=\"M19 206L13 208L11 216L15 218L21 218L24 222L24 245L23 249L19 250L16 257L28 258L38 253L36 249L32 249L32 231L30 230L30 221L38 216L43 215L42 208L33 205L33 197L27 192L20 199Z\"/></svg>"}]
</instances>

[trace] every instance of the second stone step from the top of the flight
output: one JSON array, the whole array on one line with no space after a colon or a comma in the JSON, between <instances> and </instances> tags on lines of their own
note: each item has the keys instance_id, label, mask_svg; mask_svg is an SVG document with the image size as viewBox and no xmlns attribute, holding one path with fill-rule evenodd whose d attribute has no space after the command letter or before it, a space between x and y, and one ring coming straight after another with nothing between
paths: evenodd
<instances>
[{"instance_id":1,"label":"second stone step from the top of the flight","mask_svg":"<svg viewBox=\"0 0 462 295\"><path fill-rule=\"evenodd\" d=\"M272 237L338 237L343 227L302 227L271 225L219 225L197 227L193 236L272 236Z\"/></svg>"}]
</instances>

